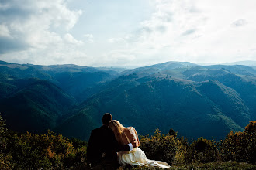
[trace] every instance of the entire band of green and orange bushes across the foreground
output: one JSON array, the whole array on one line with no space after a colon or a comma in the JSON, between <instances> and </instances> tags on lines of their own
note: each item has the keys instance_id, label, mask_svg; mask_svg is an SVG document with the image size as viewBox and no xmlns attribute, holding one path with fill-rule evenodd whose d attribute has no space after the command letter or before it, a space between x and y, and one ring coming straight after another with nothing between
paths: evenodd
<instances>
[{"instance_id":1,"label":"entire band of green and orange bushes across the foreground","mask_svg":"<svg viewBox=\"0 0 256 170\"><path fill-rule=\"evenodd\" d=\"M231 131L221 143L199 138L191 144L173 130L170 135L157 129L152 136L140 136L140 148L147 158L168 162L170 169L255 169L255 129L256 121L251 121L244 132ZM0 134L1 169L88 169L85 141L52 131L16 134L5 128L1 115ZM126 165L119 170L131 168L159 169Z\"/></svg>"}]
</instances>

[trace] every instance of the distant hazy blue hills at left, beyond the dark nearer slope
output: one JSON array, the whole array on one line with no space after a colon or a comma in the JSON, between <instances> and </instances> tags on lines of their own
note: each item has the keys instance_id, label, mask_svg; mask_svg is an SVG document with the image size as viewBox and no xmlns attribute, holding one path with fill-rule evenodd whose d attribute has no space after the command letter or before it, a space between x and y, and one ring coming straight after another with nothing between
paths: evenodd
<instances>
[{"instance_id":1,"label":"distant hazy blue hills at left, beyond the dark nearer slope","mask_svg":"<svg viewBox=\"0 0 256 170\"><path fill-rule=\"evenodd\" d=\"M89 96L82 97L81 91L97 87L98 83L110 80L117 74L115 68L98 69L72 64L40 66L6 62L0 63L0 71L0 82L10 83L12 80L26 78L48 80L70 93L78 101L85 100Z\"/></svg>"}]
</instances>

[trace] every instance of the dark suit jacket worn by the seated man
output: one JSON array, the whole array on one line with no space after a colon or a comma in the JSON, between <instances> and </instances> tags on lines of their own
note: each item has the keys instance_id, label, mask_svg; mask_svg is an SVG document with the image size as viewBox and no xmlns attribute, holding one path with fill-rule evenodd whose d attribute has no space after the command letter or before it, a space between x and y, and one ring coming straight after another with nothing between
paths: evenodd
<instances>
[{"instance_id":1,"label":"dark suit jacket worn by the seated man","mask_svg":"<svg viewBox=\"0 0 256 170\"><path fill-rule=\"evenodd\" d=\"M115 134L106 125L92 130L87 147L89 162L114 161L116 159L116 151L129 151L129 146L119 146Z\"/></svg>"}]
</instances>

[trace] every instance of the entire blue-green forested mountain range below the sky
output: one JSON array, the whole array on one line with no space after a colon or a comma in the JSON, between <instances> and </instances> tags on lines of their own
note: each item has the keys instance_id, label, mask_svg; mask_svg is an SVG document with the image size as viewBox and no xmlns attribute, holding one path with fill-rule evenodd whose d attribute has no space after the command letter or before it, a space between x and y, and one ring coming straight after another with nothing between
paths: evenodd
<instances>
[{"instance_id":1,"label":"entire blue-green forested mountain range below the sky","mask_svg":"<svg viewBox=\"0 0 256 170\"><path fill-rule=\"evenodd\" d=\"M167 62L125 70L0 61L0 112L15 131L88 140L109 112L139 134L222 139L256 119L256 66Z\"/></svg>"}]
</instances>

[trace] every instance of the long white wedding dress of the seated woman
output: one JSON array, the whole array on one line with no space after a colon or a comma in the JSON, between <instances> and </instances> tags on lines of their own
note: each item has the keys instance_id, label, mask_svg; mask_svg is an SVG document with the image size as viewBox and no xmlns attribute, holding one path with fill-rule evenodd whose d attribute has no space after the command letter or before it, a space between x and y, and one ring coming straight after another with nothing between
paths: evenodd
<instances>
[{"instance_id":1,"label":"long white wedding dress of the seated woman","mask_svg":"<svg viewBox=\"0 0 256 170\"><path fill-rule=\"evenodd\" d=\"M137 131L133 127L128 128L129 132L125 133L127 141L130 143L131 140L127 136L133 135L133 140L138 139ZM118 161L121 165L138 165L138 166L148 166L148 167L158 167L158 168L170 168L166 162L154 161L147 159L144 151L140 148L133 148L132 151L120 151L118 153Z\"/></svg>"}]
</instances>

